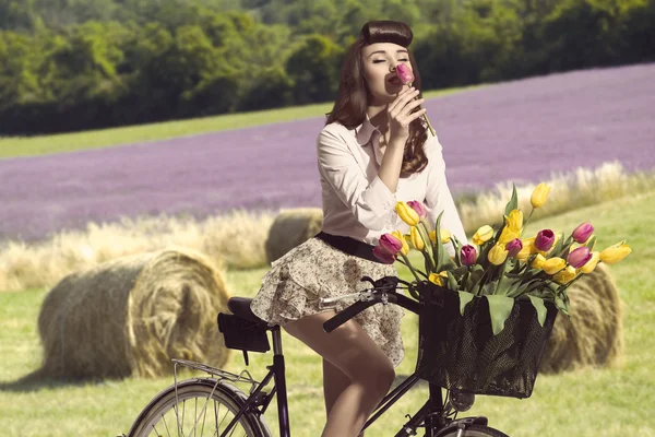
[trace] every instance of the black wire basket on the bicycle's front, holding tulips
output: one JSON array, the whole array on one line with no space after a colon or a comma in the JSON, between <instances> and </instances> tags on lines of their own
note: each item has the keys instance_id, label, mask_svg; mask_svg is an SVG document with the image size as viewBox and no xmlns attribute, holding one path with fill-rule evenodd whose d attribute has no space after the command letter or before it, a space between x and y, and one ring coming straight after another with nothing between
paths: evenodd
<instances>
[{"instance_id":1,"label":"black wire basket on the bicycle's front, holding tulips","mask_svg":"<svg viewBox=\"0 0 655 437\"><path fill-rule=\"evenodd\" d=\"M544 327L527 297L515 300L504 329L491 330L487 298L475 296L460 314L458 293L419 284L416 375L448 389L529 398L558 314L546 302Z\"/></svg>"}]
</instances>

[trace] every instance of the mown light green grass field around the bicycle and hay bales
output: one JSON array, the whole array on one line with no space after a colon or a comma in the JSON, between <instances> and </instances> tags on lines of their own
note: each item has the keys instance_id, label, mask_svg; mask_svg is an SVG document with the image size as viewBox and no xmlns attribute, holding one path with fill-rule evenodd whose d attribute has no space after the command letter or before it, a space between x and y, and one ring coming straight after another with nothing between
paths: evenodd
<instances>
[{"instance_id":1,"label":"mown light green grass field around the bicycle and hay bales","mask_svg":"<svg viewBox=\"0 0 655 437\"><path fill-rule=\"evenodd\" d=\"M541 227L570 232L591 220L603 248L628 238L632 255L611 272L626 303L624 363L616 369L587 369L559 376L539 376L527 400L479 397L471 414L490 417L490 424L512 437L655 436L655 293L647 277L655 269L655 193L606 202L535 222ZM228 271L233 294L252 296L266 269ZM409 279L400 267L401 275ZM24 385L16 382L36 369L40 346L36 319L44 290L0 294L0 414L7 436L115 436L129 429L139 411L172 378L108 380L103 382ZM398 381L413 371L416 357L416 317L403 319L406 357L396 369ZM291 430L317 436L324 423L320 359L285 334L290 390ZM251 355L250 370L261 378L271 355ZM243 367L233 354L227 369ZM413 389L373 426L370 436L386 436L413 413L426 395L426 386ZM468 415L468 414L467 414ZM276 429L275 411L266 414Z\"/></svg>"}]
</instances>

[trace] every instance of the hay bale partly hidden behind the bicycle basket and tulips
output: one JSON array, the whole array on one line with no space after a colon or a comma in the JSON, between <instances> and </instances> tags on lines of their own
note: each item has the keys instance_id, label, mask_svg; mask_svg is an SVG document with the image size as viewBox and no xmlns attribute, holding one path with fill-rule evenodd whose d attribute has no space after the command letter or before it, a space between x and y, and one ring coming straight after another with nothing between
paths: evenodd
<instances>
[{"instance_id":1,"label":"hay bale partly hidden behind the bicycle basket and tulips","mask_svg":"<svg viewBox=\"0 0 655 437\"><path fill-rule=\"evenodd\" d=\"M598 264L568 290L571 320L560 314L539 371L615 366L623 351L621 299L609 268Z\"/></svg>"}]
</instances>

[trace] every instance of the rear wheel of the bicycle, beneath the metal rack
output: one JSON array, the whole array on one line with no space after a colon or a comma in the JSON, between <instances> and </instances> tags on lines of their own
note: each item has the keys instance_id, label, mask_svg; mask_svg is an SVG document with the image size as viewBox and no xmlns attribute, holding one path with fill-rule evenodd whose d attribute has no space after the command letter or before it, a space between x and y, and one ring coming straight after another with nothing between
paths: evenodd
<instances>
[{"instance_id":1,"label":"rear wheel of the bicycle, beneath the metal rack","mask_svg":"<svg viewBox=\"0 0 655 437\"><path fill-rule=\"evenodd\" d=\"M213 406L210 406L210 397L214 401ZM207 433L209 436L221 436L221 426L226 427L227 424L234 418L235 414L241 409L246 401L246 394L238 388L221 382L216 386L216 380L212 379L191 379L179 382L177 386L177 399L175 386L170 386L157 394L151 403L140 413L139 417L132 425L129 437L153 437L153 436L178 436L178 426L181 427L179 435L193 435L202 437L203 433ZM193 402L195 400L195 402ZM200 406L199 402L200 400ZM192 401L193 411L189 414L193 414L195 421L189 428L184 424L187 415L187 402ZM175 405L178 406L178 415L176 418ZM217 408L218 405L218 408ZM203 408L204 406L204 408ZM222 411L221 406L225 406L225 412ZM202 421L200 414L203 414ZM214 416L214 429L212 425L206 425L207 410L210 415ZM221 416L219 416L221 414ZM180 423L181 415L181 423ZM169 422L167 422L169 417ZM221 423L218 421L221 420ZM171 422L172 421L172 422ZM211 422L211 421L210 421ZM176 426L176 423L178 426ZM189 422L187 422L189 424ZM172 427L171 427L172 425ZM171 433L172 429L172 433ZM198 430L200 429L200 434ZM193 433L190 433L193 432ZM163 434L166 433L166 434ZM246 437L271 437L269 427L263 422L263 417L259 417L252 412L243 414L235 427L233 427L231 434ZM234 434L237 433L237 434Z\"/></svg>"}]
</instances>

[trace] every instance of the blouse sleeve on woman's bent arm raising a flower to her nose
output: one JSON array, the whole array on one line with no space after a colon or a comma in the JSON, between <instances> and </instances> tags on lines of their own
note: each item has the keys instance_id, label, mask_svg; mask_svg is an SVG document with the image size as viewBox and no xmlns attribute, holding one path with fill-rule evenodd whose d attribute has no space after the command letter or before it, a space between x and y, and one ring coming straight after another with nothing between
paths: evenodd
<instances>
[{"instance_id":1,"label":"blouse sleeve on woman's bent arm raising a flower to her nose","mask_svg":"<svg viewBox=\"0 0 655 437\"><path fill-rule=\"evenodd\" d=\"M338 134L323 129L317 141L319 172L355 218L371 231L382 231L395 214L396 196L379 176L369 184Z\"/></svg>"}]
</instances>

